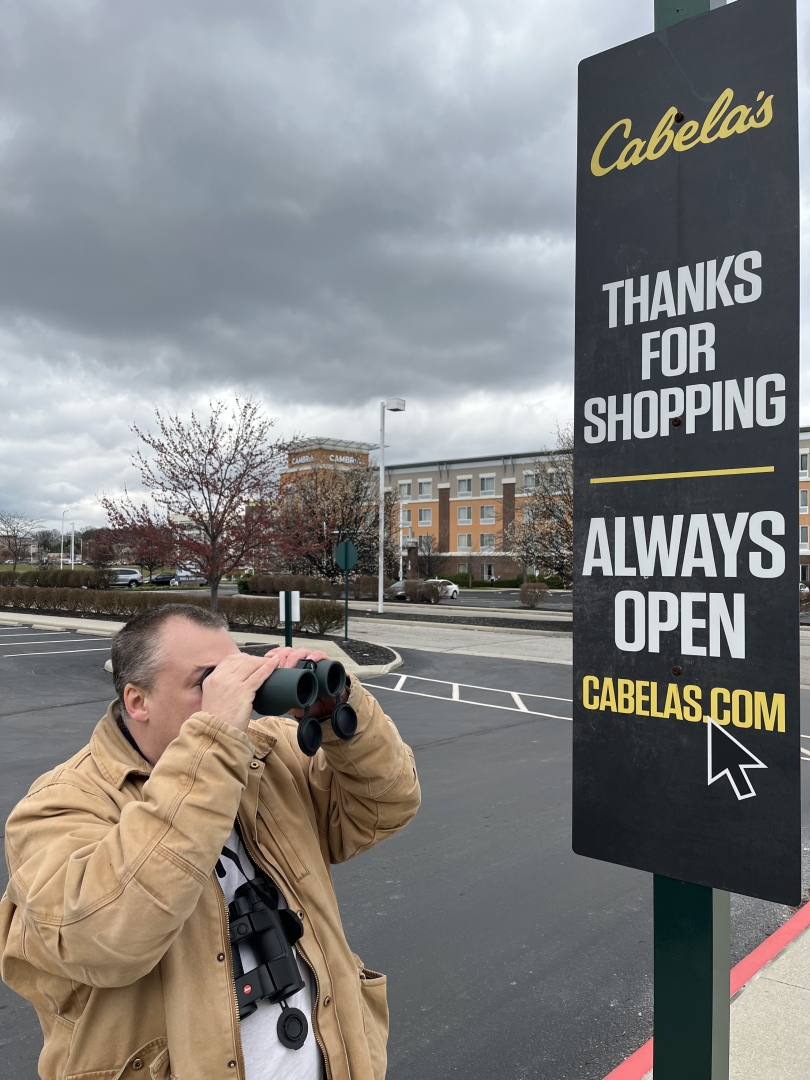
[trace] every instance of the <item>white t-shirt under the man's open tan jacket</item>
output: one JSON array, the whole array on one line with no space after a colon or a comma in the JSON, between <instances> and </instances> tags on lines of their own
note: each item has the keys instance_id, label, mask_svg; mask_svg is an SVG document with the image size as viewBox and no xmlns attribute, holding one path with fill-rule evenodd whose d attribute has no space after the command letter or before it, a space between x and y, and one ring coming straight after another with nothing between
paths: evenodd
<instances>
[{"instance_id":1,"label":"white t-shirt under the man's open tan jacket","mask_svg":"<svg viewBox=\"0 0 810 1080\"><path fill-rule=\"evenodd\" d=\"M232 859L224 855L220 866L225 869L225 877L217 874L219 885L225 893L226 903L230 904L233 894L247 878L255 876L253 864L244 849L235 827L226 840L225 847L233 852L239 859L243 873L237 868ZM279 907L286 907L286 902L280 893ZM256 958L253 949L247 945L240 945L240 956L242 967L245 971L251 971L256 967ZM295 953L295 949L293 949ZM265 998L258 1001L258 1009L249 1016L245 1016L240 1023L242 1034L242 1051L245 1058L245 1080L321 1080L323 1077L323 1058L321 1050L312 1031L312 1003L314 1001L314 978L307 964L296 954L298 968L305 981L305 987L292 998L287 998L287 1004L294 1009L300 1009L307 1017L309 1032L307 1041L300 1050L291 1050L279 1041L275 1025L281 1016L281 1005L270 1004Z\"/></svg>"}]
</instances>

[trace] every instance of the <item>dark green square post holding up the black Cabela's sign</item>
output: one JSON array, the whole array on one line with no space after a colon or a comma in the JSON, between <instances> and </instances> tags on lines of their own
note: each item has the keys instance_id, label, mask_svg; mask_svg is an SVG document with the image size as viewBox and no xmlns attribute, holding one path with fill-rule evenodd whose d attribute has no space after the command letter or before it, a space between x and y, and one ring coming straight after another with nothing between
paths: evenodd
<instances>
[{"instance_id":1,"label":"dark green square post holding up the black Cabela's sign","mask_svg":"<svg viewBox=\"0 0 810 1080\"><path fill-rule=\"evenodd\" d=\"M653 0L656 29L725 0ZM728 1080L730 895L653 876L656 1080Z\"/></svg>"}]
</instances>

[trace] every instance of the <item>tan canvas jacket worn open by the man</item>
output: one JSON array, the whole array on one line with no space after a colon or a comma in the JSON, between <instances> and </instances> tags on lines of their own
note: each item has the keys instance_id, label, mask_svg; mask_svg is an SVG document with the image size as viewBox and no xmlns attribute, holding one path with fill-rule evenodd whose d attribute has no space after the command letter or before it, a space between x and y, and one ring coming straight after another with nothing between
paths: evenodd
<instances>
[{"instance_id":1,"label":"tan canvas jacket worn open by the man","mask_svg":"<svg viewBox=\"0 0 810 1080\"><path fill-rule=\"evenodd\" d=\"M333 1080L386 1072L386 977L343 935L330 863L419 806L409 748L352 680L357 733L305 757L292 720L247 734L195 713L154 767L113 703L90 744L41 777L5 831L2 978L33 1003L43 1080L242 1080L228 913L214 866L245 846L303 920L312 1026Z\"/></svg>"}]
</instances>

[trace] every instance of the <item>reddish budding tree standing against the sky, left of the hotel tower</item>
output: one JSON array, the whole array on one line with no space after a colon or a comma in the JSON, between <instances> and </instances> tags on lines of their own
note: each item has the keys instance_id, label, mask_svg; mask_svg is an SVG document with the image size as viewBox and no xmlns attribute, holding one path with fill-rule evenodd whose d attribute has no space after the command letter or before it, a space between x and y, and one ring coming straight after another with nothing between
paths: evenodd
<instances>
[{"instance_id":1,"label":"reddish budding tree standing against the sky, left of the hotel tower","mask_svg":"<svg viewBox=\"0 0 810 1080\"><path fill-rule=\"evenodd\" d=\"M154 415L156 433L132 429L148 454L138 449L133 464L151 505L136 505L126 491L104 496L102 505L124 536L148 521L171 537L176 565L206 578L216 611L225 575L269 546L285 447L271 441L275 421L249 399L237 399L230 413L226 402L214 402L207 420Z\"/></svg>"}]
</instances>

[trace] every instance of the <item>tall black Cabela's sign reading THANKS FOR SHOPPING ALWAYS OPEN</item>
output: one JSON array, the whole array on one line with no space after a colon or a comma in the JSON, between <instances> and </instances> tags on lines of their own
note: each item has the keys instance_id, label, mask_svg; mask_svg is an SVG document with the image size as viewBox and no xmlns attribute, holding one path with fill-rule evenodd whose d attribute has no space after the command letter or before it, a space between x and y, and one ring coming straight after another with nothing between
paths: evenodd
<instances>
[{"instance_id":1,"label":"tall black Cabela's sign reading THANKS FOR SHOPPING ALWAYS OPEN","mask_svg":"<svg viewBox=\"0 0 810 1080\"><path fill-rule=\"evenodd\" d=\"M573 849L799 901L794 0L580 66Z\"/></svg>"}]
</instances>

